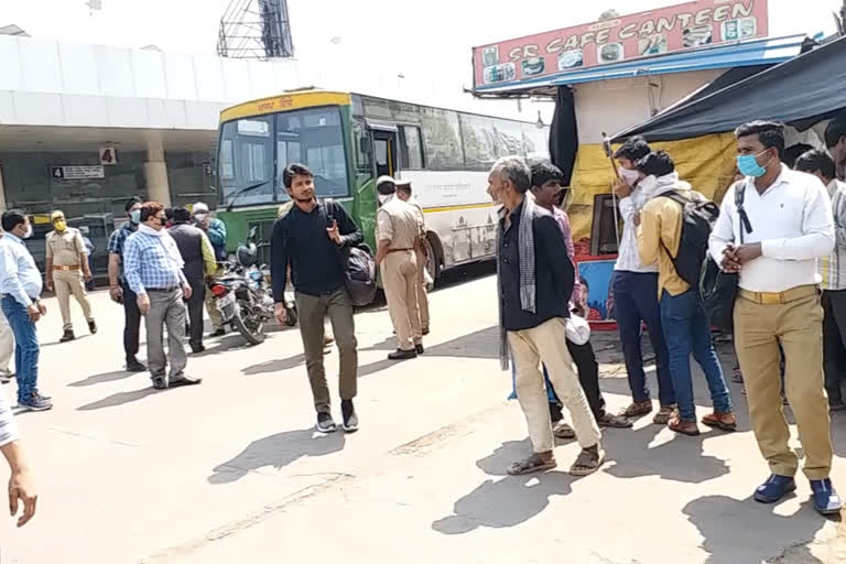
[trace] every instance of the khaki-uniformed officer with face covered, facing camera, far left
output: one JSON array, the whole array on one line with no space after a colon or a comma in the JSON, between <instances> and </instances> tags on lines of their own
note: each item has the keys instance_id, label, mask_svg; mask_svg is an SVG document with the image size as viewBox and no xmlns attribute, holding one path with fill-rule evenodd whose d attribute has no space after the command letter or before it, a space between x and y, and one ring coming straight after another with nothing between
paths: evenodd
<instances>
[{"instance_id":1,"label":"khaki-uniformed officer with face covered, facing camera, far left","mask_svg":"<svg viewBox=\"0 0 846 564\"><path fill-rule=\"evenodd\" d=\"M47 256L47 290L56 292L58 307L62 311L64 335L61 343L74 340L74 324L70 319L70 295L76 299L83 308L83 314L88 322L91 334L97 333L97 324L91 317L91 305L88 303L88 293L85 283L94 276L88 265L88 250L85 248L83 234L79 229L67 226L65 214L54 212L51 216L54 231L46 237Z\"/></svg>"}]
</instances>

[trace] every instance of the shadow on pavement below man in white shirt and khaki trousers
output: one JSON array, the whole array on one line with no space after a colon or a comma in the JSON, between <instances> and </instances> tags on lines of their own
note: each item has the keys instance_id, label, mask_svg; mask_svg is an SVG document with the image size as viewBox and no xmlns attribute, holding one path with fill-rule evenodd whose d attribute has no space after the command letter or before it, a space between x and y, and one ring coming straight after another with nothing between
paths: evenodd
<instances>
[{"instance_id":1,"label":"shadow on pavement below man in white shirt and khaki trousers","mask_svg":"<svg viewBox=\"0 0 846 564\"><path fill-rule=\"evenodd\" d=\"M683 512L704 538L702 547L711 554L707 564L772 562L768 558L779 556L798 540L810 541L826 522L810 501L802 503L795 514L782 517L773 513L772 506L758 503L751 497L702 497L687 503ZM806 547L800 554L804 560L791 557L785 562L823 564Z\"/></svg>"}]
</instances>

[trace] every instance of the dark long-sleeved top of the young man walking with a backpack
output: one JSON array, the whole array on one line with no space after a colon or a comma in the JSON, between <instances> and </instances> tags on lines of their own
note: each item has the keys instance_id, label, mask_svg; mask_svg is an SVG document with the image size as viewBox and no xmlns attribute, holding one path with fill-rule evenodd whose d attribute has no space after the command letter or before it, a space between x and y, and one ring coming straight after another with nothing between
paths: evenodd
<instances>
[{"instance_id":1,"label":"dark long-sleeved top of the young man walking with a backpack","mask_svg":"<svg viewBox=\"0 0 846 564\"><path fill-rule=\"evenodd\" d=\"M329 239L326 229L338 221L341 246ZM339 204L317 204L310 213L296 205L276 219L270 241L273 299L284 300L288 265L294 289L303 294L326 295L344 286L341 249L364 241L361 229Z\"/></svg>"}]
</instances>

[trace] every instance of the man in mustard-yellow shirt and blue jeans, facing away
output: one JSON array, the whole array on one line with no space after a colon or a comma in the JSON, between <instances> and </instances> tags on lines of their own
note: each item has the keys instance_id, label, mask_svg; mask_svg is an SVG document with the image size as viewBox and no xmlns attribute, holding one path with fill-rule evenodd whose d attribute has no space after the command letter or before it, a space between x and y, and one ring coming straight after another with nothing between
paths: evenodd
<instances>
[{"instance_id":1,"label":"man in mustard-yellow shirt and blue jeans, facing away","mask_svg":"<svg viewBox=\"0 0 846 564\"><path fill-rule=\"evenodd\" d=\"M638 227L638 250L644 264L658 262L658 300L661 303L661 326L670 352L670 376L679 404L668 422L671 431L696 436L696 406L693 400L691 354L708 383L714 412L702 422L723 431L737 430L731 413L731 395L719 366L711 338L711 326L699 303L698 289L692 288L673 265L682 242L683 202L705 202L702 194L679 180L675 163L664 151L649 153L638 161L639 185L654 194L643 206Z\"/></svg>"}]
</instances>

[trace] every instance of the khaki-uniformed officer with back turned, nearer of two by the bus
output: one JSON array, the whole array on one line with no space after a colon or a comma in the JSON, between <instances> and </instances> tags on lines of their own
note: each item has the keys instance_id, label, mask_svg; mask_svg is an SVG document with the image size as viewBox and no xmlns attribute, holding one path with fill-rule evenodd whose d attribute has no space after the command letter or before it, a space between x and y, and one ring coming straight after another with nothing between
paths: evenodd
<instances>
[{"instance_id":1,"label":"khaki-uniformed officer with back turned, nearer of two by the bus","mask_svg":"<svg viewBox=\"0 0 846 564\"><path fill-rule=\"evenodd\" d=\"M377 192L381 207L376 214L376 263L380 267L388 311L398 347L390 360L406 360L423 354L423 334L417 311L417 259L414 248L423 226L415 209L397 197L397 183L380 176Z\"/></svg>"}]
</instances>

